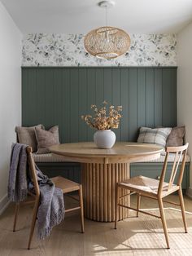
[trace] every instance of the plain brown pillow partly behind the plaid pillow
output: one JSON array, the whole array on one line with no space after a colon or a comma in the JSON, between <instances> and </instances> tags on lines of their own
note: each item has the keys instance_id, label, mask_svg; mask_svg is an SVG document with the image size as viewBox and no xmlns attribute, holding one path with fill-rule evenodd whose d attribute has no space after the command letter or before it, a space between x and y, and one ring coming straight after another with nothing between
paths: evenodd
<instances>
[{"instance_id":1,"label":"plain brown pillow partly behind the plaid pillow","mask_svg":"<svg viewBox=\"0 0 192 256\"><path fill-rule=\"evenodd\" d=\"M184 144L185 126L176 126L172 128L166 147L179 147Z\"/></svg>"}]
</instances>

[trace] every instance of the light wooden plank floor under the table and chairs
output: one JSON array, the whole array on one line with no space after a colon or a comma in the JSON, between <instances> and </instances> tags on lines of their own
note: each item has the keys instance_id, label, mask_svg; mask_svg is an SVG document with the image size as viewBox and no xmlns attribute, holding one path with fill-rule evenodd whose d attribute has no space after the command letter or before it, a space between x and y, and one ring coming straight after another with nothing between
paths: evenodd
<instances>
[{"instance_id":1,"label":"light wooden plank floor under the table and chairs","mask_svg":"<svg viewBox=\"0 0 192 256\"><path fill-rule=\"evenodd\" d=\"M177 201L177 196L169 197ZM133 204L135 199L133 198ZM67 204L67 203L66 203ZM166 207L170 205L165 204ZM142 199L142 208L150 208L158 213L154 200ZM30 223L31 206L20 209L18 231L12 232L14 205L10 205L0 216L0 255L1 256L92 256L92 255L192 255L192 201L185 197L185 208L189 233L184 233L181 212L165 210L171 249L166 243L161 222L146 214L120 221L115 230L114 223L97 223L85 219L85 234L81 234L78 214L66 214L65 220L55 227L49 239L38 241L34 236L32 249L26 249ZM36 234L35 234L36 235Z\"/></svg>"}]
</instances>

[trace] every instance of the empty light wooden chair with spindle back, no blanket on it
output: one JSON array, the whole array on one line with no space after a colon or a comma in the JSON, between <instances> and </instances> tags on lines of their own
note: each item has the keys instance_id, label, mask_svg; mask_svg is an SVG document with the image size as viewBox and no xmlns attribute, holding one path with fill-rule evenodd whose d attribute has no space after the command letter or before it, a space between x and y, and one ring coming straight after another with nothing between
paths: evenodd
<instances>
[{"instance_id":1,"label":"empty light wooden chair with spindle back, no blanket on it","mask_svg":"<svg viewBox=\"0 0 192 256\"><path fill-rule=\"evenodd\" d=\"M181 183L182 183L182 178L183 178L183 172L185 169L185 160L186 160L186 152L188 148L188 143L186 143L184 146L181 147L168 147L166 148L166 157L164 160L164 167L160 176L159 180L156 179L151 179L147 178L144 176L137 176L133 177L131 179L124 180L123 182L117 183L116 184L116 220L115 220L115 228L117 224L117 219L118 219L118 212L119 212L119 207L125 207L130 210L136 210L137 211L137 217L138 213L141 212L143 214L149 214L151 216L154 216L156 218L161 218L163 227L164 227L164 236L167 242L168 249L169 247L169 242L168 242L168 229L167 229L167 223L165 220L165 215L164 215L164 202L168 202L173 205L179 205L181 206L181 213L182 213L182 218L183 218L183 223L185 227L185 233L187 232L187 225L186 225L186 218L185 218L185 206L184 206L184 201L183 201L183 195L182 195L182 189L181 189ZM167 164L168 164L168 155L169 153L175 153L175 159L174 162L172 163L172 171L169 177L169 182L166 183L164 182L166 170L167 170ZM179 164L181 162L181 169L179 170ZM179 170L178 174L178 179L177 179L177 184L174 184L174 180L176 178L177 170ZM129 192L125 196L129 196L130 194L137 193L137 209L134 209L132 207L129 207L128 205L122 205L120 203L121 199L124 196L120 196L120 189L128 189ZM165 196L168 196L172 194L173 192L177 192L179 194L179 199L180 203L174 203L171 201L165 201L163 198ZM133 193L130 193L133 192ZM155 214L148 213L146 211L140 210L140 201L141 201L141 196L146 196L150 197L152 199L155 199L159 203L159 213L160 216L157 216Z\"/></svg>"}]
</instances>

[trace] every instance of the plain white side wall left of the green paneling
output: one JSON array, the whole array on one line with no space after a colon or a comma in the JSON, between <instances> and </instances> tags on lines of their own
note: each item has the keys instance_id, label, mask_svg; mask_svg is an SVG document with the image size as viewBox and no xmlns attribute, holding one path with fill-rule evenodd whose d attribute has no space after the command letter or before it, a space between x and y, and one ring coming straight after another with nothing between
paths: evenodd
<instances>
[{"instance_id":1,"label":"plain white side wall left of the green paneling","mask_svg":"<svg viewBox=\"0 0 192 256\"><path fill-rule=\"evenodd\" d=\"M0 212L7 203L7 179L15 126L21 123L21 40L0 2Z\"/></svg>"}]
</instances>

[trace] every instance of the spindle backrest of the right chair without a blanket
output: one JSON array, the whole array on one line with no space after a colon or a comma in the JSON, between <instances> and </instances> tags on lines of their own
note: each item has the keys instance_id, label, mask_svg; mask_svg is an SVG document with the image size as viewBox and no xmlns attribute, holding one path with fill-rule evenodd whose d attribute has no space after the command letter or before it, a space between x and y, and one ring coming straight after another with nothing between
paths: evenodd
<instances>
[{"instance_id":1,"label":"spindle backrest of the right chair without a blanket","mask_svg":"<svg viewBox=\"0 0 192 256\"><path fill-rule=\"evenodd\" d=\"M166 148L166 157L164 160L164 167L159 180L159 188L158 188L159 193L161 193L164 188L164 178L167 171L169 153L175 153L175 157L172 163L170 178L167 181L168 188L166 188L166 190L168 191L169 189L172 188L172 185L174 184L174 180L176 179L178 170L179 170L179 178L177 179L177 186L181 186L183 172L185 169L185 160L186 160L186 152L187 152L188 145L189 143L186 143L184 146L181 146L181 147ZM179 169L180 163L181 163L181 169Z\"/></svg>"}]
</instances>

